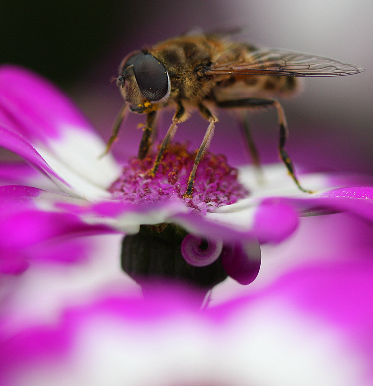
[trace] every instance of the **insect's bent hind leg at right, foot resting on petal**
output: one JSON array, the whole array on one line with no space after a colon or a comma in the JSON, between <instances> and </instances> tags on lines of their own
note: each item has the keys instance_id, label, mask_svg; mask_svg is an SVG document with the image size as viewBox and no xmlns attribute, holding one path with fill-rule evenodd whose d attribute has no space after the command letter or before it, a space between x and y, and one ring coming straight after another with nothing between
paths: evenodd
<instances>
[{"instance_id":1,"label":"insect's bent hind leg at right, foot resting on petal","mask_svg":"<svg viewBox=\"0 0 373 386\"><path fill-rule=\"evenodd\" d=\"M290 176L294 180L297 187L306 193L312 193L312 191L304 189L298 179L295 176L294 166L293 163L285 151L285 143L287 138L287 123L286 123L286 117L285 113L283 111L283 108L281 104L277 100L270 100L270 99L254 99L254 98L248 98L248 99L240 99L240 100L227 100L222 102L216 103L218 107L221 108L237 108L237 107L249 107L249 108L255 108L255 107L266 107L266 106L273 106L277 110L277 116L279 120L279 127L280 127L280 137L279 137L279 156L280 159L285 164Z\"/></svg>"}]
</instances>

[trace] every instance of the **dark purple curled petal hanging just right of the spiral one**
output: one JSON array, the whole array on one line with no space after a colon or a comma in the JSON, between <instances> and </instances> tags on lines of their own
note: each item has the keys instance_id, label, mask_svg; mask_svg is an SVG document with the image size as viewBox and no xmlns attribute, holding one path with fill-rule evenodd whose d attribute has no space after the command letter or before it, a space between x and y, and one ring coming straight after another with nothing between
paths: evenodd
<instances>
[{"instance_id":1,"label":"dark purple curled petal hanging just right of the spiral one","mask_svg":"<svg viewBox=\"0 0 373 386\"><path fill-rule=\"evenodd\" d=\"M259 242L251 240L244 244L225 244L221 252L224 271L241 284L251 283L258 275L261 251Z\"/></svg>"}]
</instances>

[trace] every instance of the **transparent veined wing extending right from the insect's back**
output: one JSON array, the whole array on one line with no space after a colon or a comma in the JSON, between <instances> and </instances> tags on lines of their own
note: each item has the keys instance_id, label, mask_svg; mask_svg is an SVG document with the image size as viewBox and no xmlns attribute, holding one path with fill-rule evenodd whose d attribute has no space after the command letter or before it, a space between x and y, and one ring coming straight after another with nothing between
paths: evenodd
<instances>
[{"instance_id":1,"label":"transparent veined wing extending right from the insect's back","mask_svg":"<svg viewBox=\"0 0 373 386\"><path fill-rule=\"evenodd\" d=\"M207 75L286 75L297 77L333 77L357 74L364 68L338 60L298 52L265 49L253 51L245 61L217 62Z\"/></svg>"}]
</instances>

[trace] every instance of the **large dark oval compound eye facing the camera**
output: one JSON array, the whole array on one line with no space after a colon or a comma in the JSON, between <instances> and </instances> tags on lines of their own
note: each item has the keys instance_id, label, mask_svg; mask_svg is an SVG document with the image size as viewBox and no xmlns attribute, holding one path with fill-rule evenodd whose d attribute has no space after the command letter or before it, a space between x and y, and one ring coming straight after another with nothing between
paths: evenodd
<instances>
[{"instance_id":1,"label":"large dark oval compound eye facing the camera","mask_svg":"<svg viewBox=\"0 0 373 386\"><path fill-rule=\"evenodd\" d=\"M161 100L169 90L169 77L165 66L153 55L137 54L133 72L142 95L150 101Z\"/></svg>"}]
</instances>

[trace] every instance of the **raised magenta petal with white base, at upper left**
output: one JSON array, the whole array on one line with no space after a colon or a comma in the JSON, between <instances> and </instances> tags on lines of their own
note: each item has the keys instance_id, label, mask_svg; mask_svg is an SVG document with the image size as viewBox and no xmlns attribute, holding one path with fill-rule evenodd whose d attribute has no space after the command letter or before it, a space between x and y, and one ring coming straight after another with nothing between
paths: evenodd
<instances>
[{"instance_id":1,"label":"raised magenta petal with white base, at upper left","mask_svg":"<svg viewBox=\"0 0 373 386\"><path fill-rule=\"evenodd\" d=\"M110 155L99 158L105 144L74 104L28 70L0 67L0 124L29 142L71 186L83 177L106 188L118 175L118 165ZM15 146L10 150L24 156Z\"/></svg>"}]
</instances>

